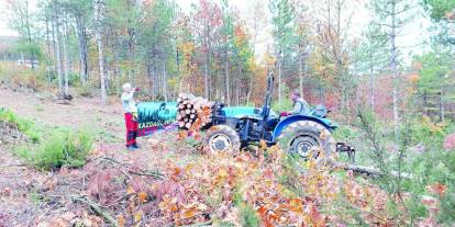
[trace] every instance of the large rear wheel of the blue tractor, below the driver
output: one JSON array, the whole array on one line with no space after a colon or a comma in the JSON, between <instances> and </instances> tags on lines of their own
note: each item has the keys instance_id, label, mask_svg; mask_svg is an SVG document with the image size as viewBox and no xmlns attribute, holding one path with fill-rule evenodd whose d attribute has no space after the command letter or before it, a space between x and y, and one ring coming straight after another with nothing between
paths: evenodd
<instances>
[{"instance_id":1,"label":"large rear wheel of the blue tractor, below the driver","mask_svg":"<svg viewBox=\"0 0 455 227\"><path fill-rule=\"evenodd\" d=\"M330 130L313 121L288 125L278 137L278 144L289 155L304 160L317 159L318 163L325 162L336 151L336 143Z\"/></svg>"}]
</instances>

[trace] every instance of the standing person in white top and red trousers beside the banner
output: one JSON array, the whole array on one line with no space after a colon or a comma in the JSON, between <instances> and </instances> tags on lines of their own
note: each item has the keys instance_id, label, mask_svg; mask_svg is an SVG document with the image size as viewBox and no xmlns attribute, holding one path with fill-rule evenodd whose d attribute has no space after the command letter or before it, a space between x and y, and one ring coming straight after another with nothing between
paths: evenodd
<instances>
[{"instance_id":1,"label":"standing person in white top and red trousers beside the banner","mask_svg":"<svg viewBox=\"0 0 455 227\"><path fill-rule=\"evenodd\" d=\"M140 148L136 143L137 137L137 107L134 101L134 92L138 91L138 88L132 88L130 83L123 84L122 105L125 113L126 125L126 148L129 150L135 150Z\"/></svg>"}]
</instances>

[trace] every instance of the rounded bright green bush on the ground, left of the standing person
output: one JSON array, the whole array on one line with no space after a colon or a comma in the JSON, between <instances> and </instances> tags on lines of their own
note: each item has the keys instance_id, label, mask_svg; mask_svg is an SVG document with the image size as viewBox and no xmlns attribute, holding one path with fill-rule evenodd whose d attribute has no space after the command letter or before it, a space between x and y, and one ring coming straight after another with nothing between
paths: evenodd
<instances>
[{"instance_id":1,"label":"rounded bright green bush on the ground, left of the standing person","mask_svg":"<svg viewBox=\"0 0 455 227\"><path fill-rule=\"evenodd\" d=\"M87 132L54 132L35 148L20 148L18 155L42 170L60 167L81 167L92 147L92 136Z\"/></svg>"}]
</instances>

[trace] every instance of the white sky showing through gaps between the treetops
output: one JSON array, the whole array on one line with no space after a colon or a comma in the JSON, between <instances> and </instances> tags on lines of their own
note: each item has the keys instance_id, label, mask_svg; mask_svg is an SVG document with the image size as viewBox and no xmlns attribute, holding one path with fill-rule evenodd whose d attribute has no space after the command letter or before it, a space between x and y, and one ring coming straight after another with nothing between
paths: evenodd
<instances>
[{"instance_id":1,"label":"white sky showing through gaps between the treetops","mask_svg":"<svg viewBox=\"0 0 455 227\"><path fill-rule=\"evenodd\" d=\"M18 33L10 30L8 27L7 19L4 13L2 13L3 9L5 8L5 0L0 0L0 36L18 36ZM219 2L220 0L213 0ZM240 12L241 18L244 20L249 16L252 12L252 8L254 1L252 0L228 0L230 5L236 8ZM352 3L351 3L352 1ZM418 5L419 0L411 0ZM34 9L33 5L36 4L36 0L30 0L32 10ZM191 10L191 4L199 2L199 0L176 0L176 2L180 5L185 13L189 13ZM263 0L264 9L268 12L267 2L268 0ZM349 35L351 36L360 36L363 29L366 27L368 21L371 19L370 13L364 7L368 0L347 0L349 5L356 5L353 9L353 18L352 24L349 27ZM431 25L430 20L423 15L423 11L417 9L414 13L413 20L406 25L403 29L402 35L398 37L398 45L401 46L401 49L404 56L411 56L412 54L422 53L425 49L425 45L422 45L424 42L430 39L428 30ZM257 37L257 44L255 46L256 53L260 55L265 53L267 47L271 46L271 33L270 33L270 25L267 23L265 27L263 27Z\"/></svg>"}]
</instances>

